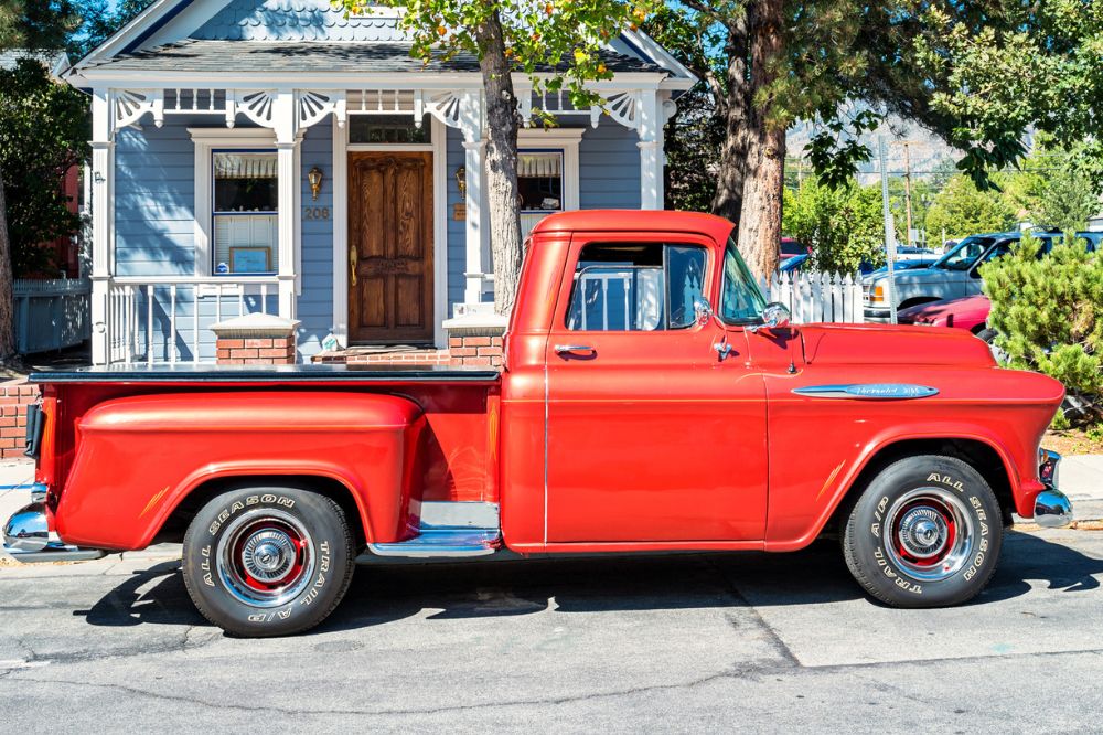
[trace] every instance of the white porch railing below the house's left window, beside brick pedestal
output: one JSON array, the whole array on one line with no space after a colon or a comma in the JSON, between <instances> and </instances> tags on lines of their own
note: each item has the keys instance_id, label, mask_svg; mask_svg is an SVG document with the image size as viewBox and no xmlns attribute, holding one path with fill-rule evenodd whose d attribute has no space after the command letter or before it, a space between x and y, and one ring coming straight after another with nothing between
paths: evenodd
<instances>
[{"instance_id":1,"label":"white porch railing below the house's left window, beside brick pedestal","mask_svg":"<svg viewBox=\"0 0 1103 735\"><path fill-rule=\"evenodd\" d=\"M272 276L117 277L107 291L108 363L213 362L213 324L279 310Z\"/></svg>"}]
</instances>

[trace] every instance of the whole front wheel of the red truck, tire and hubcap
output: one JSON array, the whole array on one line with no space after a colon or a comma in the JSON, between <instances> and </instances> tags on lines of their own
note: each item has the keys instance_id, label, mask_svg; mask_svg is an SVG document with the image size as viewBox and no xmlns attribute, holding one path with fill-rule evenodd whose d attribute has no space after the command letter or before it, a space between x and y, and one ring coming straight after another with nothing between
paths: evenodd
<instances>
[{"instance_id":1,"label":"whole front wheel of the red truck, tire and hubcap","mask_svg":"<svg viewBox=\"0 0 1103 735\"><path fill-rule=\"evenodd\" d=\"M1004 526L992 488L954 457L909 457L865 489L843 533L854 578L893 607L975 597L996 571Z\"/></svg>"}]
</instances>

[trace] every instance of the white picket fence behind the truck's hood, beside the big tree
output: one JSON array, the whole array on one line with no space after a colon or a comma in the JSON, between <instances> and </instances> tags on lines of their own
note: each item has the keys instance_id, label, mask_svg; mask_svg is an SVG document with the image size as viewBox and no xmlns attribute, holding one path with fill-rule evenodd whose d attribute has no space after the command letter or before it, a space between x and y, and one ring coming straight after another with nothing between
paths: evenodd
<instances>
[{"instance_id":1,"label":"white picket fence behind the truck's hood, beside the big tree","mask_svg":"<svg viewBox=\"0 0 1103 735\"><path fill-rule=\"evenodd\" d=\"M861 278L858 274L778 273L770 287L762 290L770 295L771 301L789 307L796 323L863 321Z\"/></svg>"}]
</instances>

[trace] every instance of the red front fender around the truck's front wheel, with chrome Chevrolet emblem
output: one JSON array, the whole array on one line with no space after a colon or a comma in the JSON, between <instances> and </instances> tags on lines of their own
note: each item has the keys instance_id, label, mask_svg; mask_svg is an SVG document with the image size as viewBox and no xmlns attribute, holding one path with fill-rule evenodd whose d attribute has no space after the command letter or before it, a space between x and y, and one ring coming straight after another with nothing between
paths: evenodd
<instances>
[{"instance_id":1,"label":"red front fender around the truck's front wheel, with chrome Chevrolet emblem","mask_svg":"<svg viewBox=\"0 0 1103 735\"><path fill-rule=\"evenodd\" d=\"M877 382L857 374L858 370L848 372L852 376L846 382ZM807 384L807 376L768 380L767 548L791 551L811 543L847 493L856 490L855 482L869 462L893 444L914 439L964 439L990 447L1007 472L1015 510L1032 515L1035 497L1042 489L1038 445L1060 402L1060 385L1040 375L1011 371L911 372L900 377L935 385L940 394L912 401L810 398L791 391ZM987 380L982 382L981 377ZM893 375L889 380L900 379ZM1018 386L1017 395L1007 390L1010 381ZM1009 395L999 395L1005 390ZM976 396L982 391L989 395L963 398L963 394Z\"/></svg>"}]
</instances>

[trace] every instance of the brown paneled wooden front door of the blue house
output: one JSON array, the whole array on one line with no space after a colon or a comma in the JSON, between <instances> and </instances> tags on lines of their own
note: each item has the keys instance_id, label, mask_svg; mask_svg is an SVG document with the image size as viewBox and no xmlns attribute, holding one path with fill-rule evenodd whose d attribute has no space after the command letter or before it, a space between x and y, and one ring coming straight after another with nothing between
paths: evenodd
<instances>
[{"instance_id":1,"label":"brown paneled wooden front door of the blue house","mask_svg":"<svg viewBox=\"0 0 1103 735\"><path fill-rule=\"evenodd\" d=\"M349 341L431 342L432 153L349 155Z\"/></svg>"}]
</instances>

